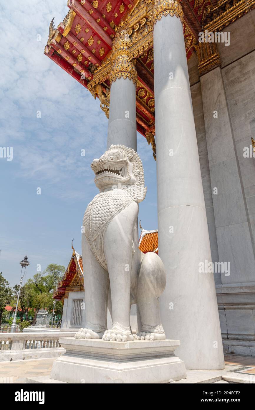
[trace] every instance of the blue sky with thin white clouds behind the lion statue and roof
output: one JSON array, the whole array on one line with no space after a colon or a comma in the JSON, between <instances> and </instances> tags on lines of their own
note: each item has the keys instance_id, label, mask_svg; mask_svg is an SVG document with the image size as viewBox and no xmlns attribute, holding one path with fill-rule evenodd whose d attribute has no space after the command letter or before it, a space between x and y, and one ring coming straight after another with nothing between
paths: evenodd
<instances>
[{"instance_id":1,"label":"blue sky with thin white clouds behind the lion statue and roof","mask_svg":"<svg viewBox=\"0 0 255 410\"><path fill-rule=\"evenodd\" d=\"M0 147L13 147L13 160L0 158L0 271L11 286L26 254L29 278L37 264L66 266L72 238L81 252L83 214L98 192L90 163L106 148L108 120L99 100L43 54L50 21L57 26L67 12L66 0L1 6ZM139 218L155 229L156 162L140 134L138 153L148 187Z\"/></svg>"}]
</instances>

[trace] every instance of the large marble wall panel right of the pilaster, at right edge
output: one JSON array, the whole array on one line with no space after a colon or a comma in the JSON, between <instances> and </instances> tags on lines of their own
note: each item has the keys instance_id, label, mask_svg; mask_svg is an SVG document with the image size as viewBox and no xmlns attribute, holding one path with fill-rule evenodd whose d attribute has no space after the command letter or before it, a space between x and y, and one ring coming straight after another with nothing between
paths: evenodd
<instances>
[{"instance_id":1,"label":"large marble wall panel right of the pilaster, at right edge","mask_svg":"<svg viewBox=\"0 0 255 410\"><path fill-rule=\"evenodd\" d=\"M241 21L244 24L243 18L240 19ZM244 187L251 241L254 244L255 158L244 157L244 148L250 148L251 137L255 138L255 51L223 68L222 77L235 139L241 183Z\"/></svg>"}]
</instances>

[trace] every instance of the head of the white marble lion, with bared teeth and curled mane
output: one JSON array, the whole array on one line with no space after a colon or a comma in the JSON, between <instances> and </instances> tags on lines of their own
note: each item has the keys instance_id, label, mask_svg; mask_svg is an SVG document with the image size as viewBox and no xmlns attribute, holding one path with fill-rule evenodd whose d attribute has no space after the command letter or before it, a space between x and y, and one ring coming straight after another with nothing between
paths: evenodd
<instances>
[{"instance_id":1,"label":"head of the white marble lion, with bared teeth and curled mane","mask_svg":"<svg viewBox=\"0 0 255 410\"><path fill-rule=\"evenodd\" d=\"M125 189L136 202L144 200L147 187L144 187L142 161L132 148L111 145L99 159L93 160L91 168L100 191Z\"/></svg>"}]
</instances>

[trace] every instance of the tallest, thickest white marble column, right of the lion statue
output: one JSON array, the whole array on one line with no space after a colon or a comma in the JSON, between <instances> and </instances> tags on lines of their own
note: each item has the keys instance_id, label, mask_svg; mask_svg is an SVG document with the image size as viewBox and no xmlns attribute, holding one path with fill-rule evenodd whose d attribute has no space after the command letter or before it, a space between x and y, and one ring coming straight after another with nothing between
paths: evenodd
<instances>
[{"instance_id":1,"label":"tallest, thickest white marble column, right of the lion statue","mask_svg":"<svg viewBox=\"0 0 255 410\"><path fill-rule=\"evenodd\" d=\"M155 1L158 245L167 272L160 312L186 368L214 370L224 360L213 273L199 272L211 252L182 16L177 1Z\"/></svg>"}]
</instances>

